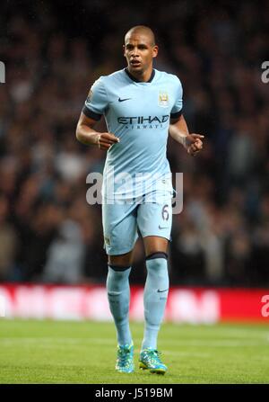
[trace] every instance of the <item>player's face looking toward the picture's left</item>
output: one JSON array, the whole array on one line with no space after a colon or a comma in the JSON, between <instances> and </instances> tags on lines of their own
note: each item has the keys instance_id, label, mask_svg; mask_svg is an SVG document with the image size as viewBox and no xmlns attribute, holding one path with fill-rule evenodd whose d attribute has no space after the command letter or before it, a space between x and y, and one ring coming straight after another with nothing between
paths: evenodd
<instances>
[{"instance_id":1,"label":"player's face looking toward the picture's left","mask_svg":"<svg viewBox=\"0 0 269 402\"><path fill-rule=\"evenodd\" d=\"M143 74L152 68L152 58L156 58L157 54L158 46L152 45L152 40L148 35L132 33L126 37L124 55L131 74Z\"/></svg>"}]
</instances>

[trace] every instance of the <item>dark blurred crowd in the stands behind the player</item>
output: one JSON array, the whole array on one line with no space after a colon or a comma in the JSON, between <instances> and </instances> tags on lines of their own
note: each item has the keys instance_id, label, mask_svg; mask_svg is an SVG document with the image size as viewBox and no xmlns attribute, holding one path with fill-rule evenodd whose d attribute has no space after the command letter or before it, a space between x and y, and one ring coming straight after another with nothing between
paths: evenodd
<instances>
[{"instance_id":1,"label":"dark blurred crowd in the stands behind the player","mask_svg":"<svg viewBox=\"0 0 269 402\"><path fill-rule=\"evenodd\" d=\"M75 127L91 84L126 66L126 31L156 32L155 67L176 74L191 132L191 157L169 138L173 173L184 174L174 215L171 284L269 285L269 3L251 1L6 2L1 5L0 281L104 283L100 205L86 176L104 153ZM104 121L100 121L100 130ZM145 277L136 245L133 283Z\"/></svg>"}]
</instances>

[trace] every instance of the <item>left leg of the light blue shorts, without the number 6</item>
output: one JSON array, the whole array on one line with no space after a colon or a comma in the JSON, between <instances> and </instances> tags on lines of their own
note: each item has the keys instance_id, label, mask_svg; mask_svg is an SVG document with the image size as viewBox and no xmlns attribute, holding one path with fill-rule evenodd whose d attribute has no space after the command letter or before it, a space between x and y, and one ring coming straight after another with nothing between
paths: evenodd
<instances>
[{"instance_id":1,"label":"left leg of the light blue shorts, without the number 6","mask_svg":"<svg viewBox=\"0 0 269 402\"><path fill-rule=\"evenodd\" d=\"M107 255L127 255L134 249L138 237L136 208L136 205L127 203L102 204L104 246Z\"/></svg>"}]
</instances>

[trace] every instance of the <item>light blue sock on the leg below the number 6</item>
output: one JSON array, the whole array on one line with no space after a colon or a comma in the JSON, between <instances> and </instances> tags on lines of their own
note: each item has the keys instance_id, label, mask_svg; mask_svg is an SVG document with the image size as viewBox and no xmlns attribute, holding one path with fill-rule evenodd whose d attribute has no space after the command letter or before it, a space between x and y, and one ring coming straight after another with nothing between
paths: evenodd
<instances>
[{"instance_id":1,"label":"light blue sock on the leg below the number 6","mask_svg":"<svg viewBox=\"0 0 269 402\"><path fill-rule=\"evenodd\" d=\"M157 349L157 337L169 291L167 255L155 253L146 259L147 279L143 291L144 335L142 350Z\"/></svg>"}]
</instances>

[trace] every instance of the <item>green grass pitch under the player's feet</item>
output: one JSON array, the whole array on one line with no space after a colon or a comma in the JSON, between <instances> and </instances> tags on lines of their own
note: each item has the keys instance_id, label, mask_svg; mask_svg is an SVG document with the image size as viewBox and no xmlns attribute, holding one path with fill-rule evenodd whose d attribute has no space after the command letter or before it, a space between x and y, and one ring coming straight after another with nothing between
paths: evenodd
<instances>
[{"instance_id":1,"label":"green grass pitch under the player's feet","mask_svg":"<svg viewBox=\"0 0 269 402\"><path fill-rule=\"evenodd\" d=\"M0 319L0 383L268 383L269 326L165 324L159 349L169 371L138 369L143 325L132 323L135 372L114 370L112 323Z\"/></svg>"}]
</instances>

